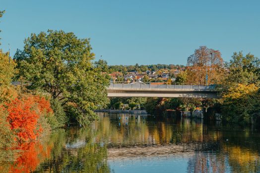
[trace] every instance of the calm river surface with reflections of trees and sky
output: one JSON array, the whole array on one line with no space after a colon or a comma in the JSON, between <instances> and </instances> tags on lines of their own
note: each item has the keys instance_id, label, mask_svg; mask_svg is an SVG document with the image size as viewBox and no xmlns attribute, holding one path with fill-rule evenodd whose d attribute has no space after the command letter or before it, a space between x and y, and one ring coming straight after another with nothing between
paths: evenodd
<instances>
[{"instance_id":1,"label":"calm river surface with reflections of trees and sky","mask_svg":"<svg viewBox=\"0 0 260 173\"><path fill-rule=\"evenodd\" d=\"M260 132L220 122L108 115L0 151L0 173L257 173Z\"/></svg>"}]
</instances>

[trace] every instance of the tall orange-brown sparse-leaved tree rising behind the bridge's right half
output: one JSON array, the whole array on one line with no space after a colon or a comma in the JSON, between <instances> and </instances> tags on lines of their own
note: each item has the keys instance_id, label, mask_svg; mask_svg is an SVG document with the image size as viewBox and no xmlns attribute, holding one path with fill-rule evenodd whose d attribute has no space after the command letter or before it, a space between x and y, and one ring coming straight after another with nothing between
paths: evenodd
<instances>
[{"instance_id":1,"label":"tall orange-brown sparse-leaved tree rising behind the bridge's right half","mask_svg":"<svg viewBox=\"0 0 260 173\"><path fill-rule=\"evenodd\" d=\"M197 85L219 83L223 77L223 59L219 50L200 46L188 57L187 82ZM206 77L207 76L207 77Z\"/></svg>"}]
</instances>

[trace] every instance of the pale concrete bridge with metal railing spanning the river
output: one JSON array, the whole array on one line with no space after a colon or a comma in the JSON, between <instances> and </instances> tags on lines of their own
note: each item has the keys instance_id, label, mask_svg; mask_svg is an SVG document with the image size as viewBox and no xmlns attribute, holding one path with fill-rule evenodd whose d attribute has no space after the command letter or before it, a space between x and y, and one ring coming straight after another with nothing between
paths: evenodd
<instances>
[{"instance_id":1,"label":"pale concrete bridge with metal railing spanning the river","mask_svg":"<svg viewBox=\"0 0 260 173\"><path fill-rule=\"evenodd\" d=\"M218 98L214 86L171 85L161 83L110 83L108 97L189 97Z\"/></svg>"}]
</instances>

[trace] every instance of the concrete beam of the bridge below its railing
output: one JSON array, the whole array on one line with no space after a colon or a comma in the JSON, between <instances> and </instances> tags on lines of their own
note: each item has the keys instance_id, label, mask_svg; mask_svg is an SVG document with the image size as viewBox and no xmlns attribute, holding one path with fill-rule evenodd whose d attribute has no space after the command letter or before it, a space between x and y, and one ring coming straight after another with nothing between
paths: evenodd
<instances>
[{"instance_id":1,"label":"concrete beam of the bridge below its railing","mask_svg":"<svg viewBox=\"0 0 260 173\"><path fill-rule=\"evenodd\" d=\"M218 98L215 91L108 89L108 97L188 97Z\"/></svg>"}]
</instances>

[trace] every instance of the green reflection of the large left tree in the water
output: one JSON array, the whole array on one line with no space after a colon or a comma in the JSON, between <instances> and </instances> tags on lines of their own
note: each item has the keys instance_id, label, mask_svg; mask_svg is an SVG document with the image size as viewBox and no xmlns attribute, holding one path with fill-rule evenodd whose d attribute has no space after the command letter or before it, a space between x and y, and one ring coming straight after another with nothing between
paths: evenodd
<instances>
[{"instance_id":1,"label":"green reflection of the large left tree in the water","mask_svg":"<svg viewBox=\"0 0 260 173\"><path fill-rule=\"evenodd\" d=\"M43 162L38 170L50 173L109 173L106 146L94 143L92 135L91 130L84 128L68 130L63 145L55 146L51 158ZM81 145L82 142L84 145Z\"/></svg>"}]
</instances>

